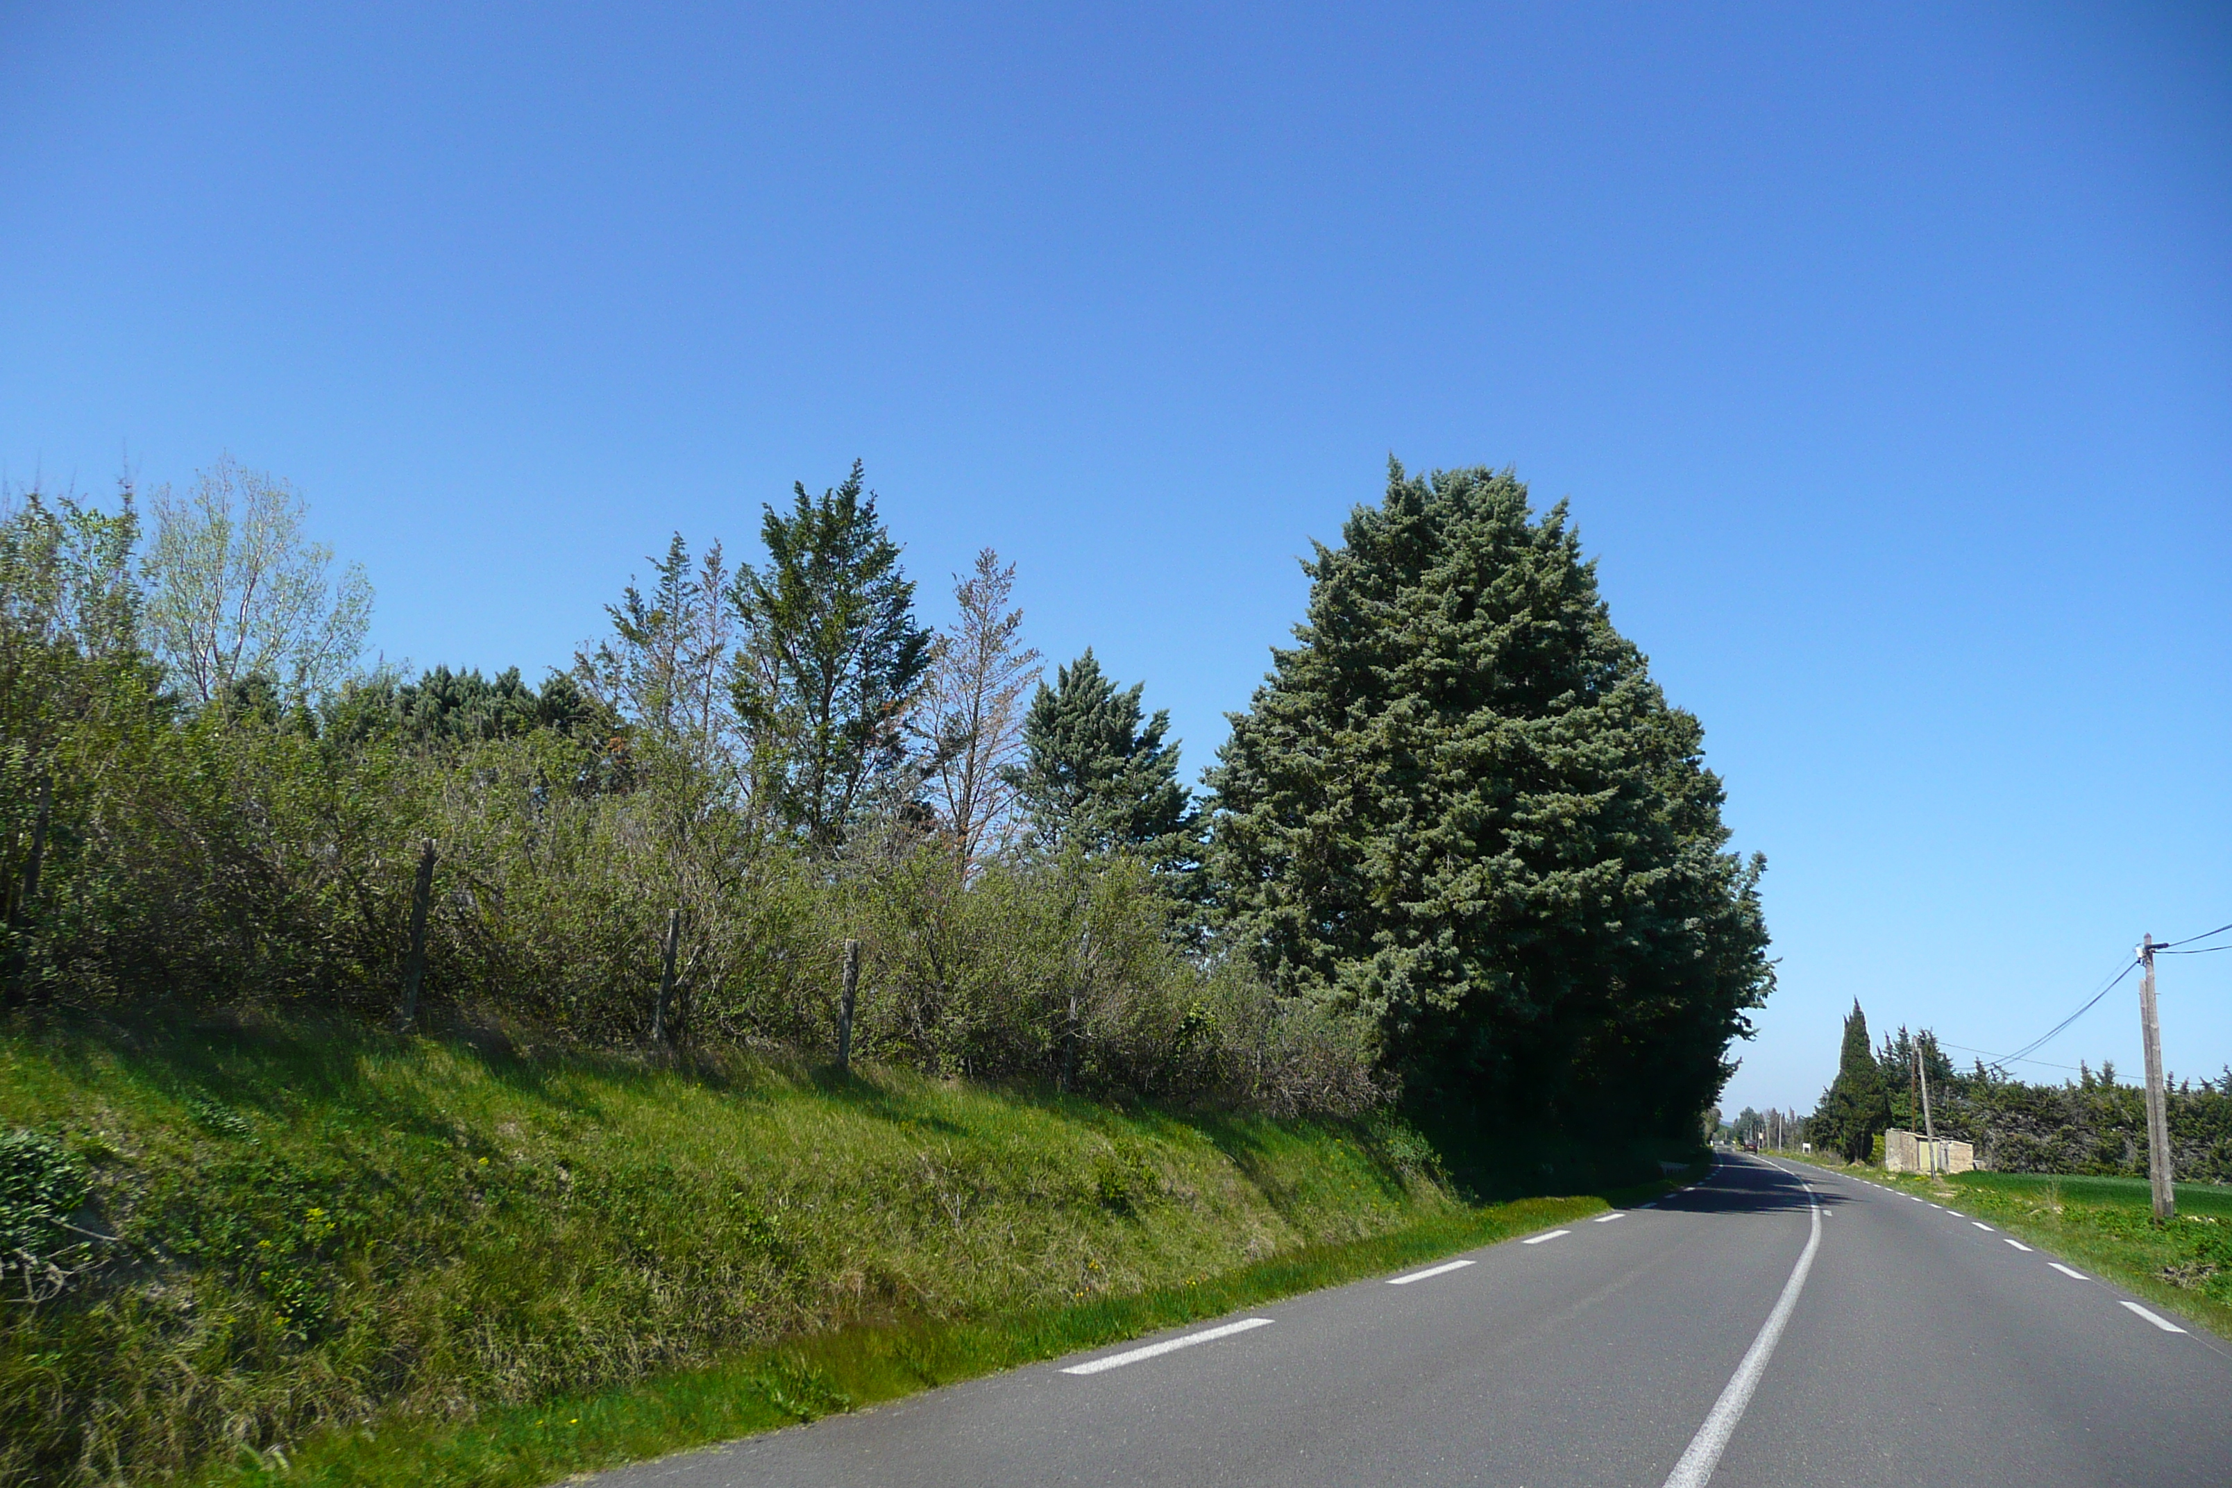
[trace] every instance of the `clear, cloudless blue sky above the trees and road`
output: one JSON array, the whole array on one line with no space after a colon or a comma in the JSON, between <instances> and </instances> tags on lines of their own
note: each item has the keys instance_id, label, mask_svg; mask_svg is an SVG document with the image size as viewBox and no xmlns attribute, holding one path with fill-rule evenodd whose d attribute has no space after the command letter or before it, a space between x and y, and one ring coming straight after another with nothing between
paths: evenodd
<instances>
[{"instance_id":1,"label":"clear, cloudless blue sky above the trees and road","mask_svg":"<svg viewBox=\"0 0 2232 1488\"><path fill-rule=\"evenodd\" d=\"M1730 1109L2232 921L2223 7L647 9L0 7L0 473L230 448L533 674L859 455L1199 767L1388 453L1513 464L1770 859Z\"/></svg>"}]
</instances>

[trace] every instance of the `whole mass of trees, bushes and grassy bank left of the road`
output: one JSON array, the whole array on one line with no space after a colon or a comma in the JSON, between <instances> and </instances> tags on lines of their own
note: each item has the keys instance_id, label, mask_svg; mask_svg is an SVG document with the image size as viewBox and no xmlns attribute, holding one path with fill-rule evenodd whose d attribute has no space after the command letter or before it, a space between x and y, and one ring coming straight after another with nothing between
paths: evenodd
<instances>
[{"instance_id":1,"label":"whole mass of trees, bushes and grassy bank left of the road","mask_svg":"<svg viewBox=\"0 0 2232 1488\"><path fill-rule=\"evenodd\" d=\"M857 466L757 529L529 680L362 667L368 578L230 460L0 504L0 1481L1303 1274L1694 1147L1761 863L1509 471L1391 468L1201 790L991 549L924 622Z\"/></svg>"}]
</instances>

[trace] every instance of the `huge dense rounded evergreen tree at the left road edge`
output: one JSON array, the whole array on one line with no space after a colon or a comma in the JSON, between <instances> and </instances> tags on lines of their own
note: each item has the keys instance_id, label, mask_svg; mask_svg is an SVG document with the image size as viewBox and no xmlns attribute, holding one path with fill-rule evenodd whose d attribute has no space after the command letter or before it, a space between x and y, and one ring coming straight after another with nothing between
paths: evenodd
<instances>
[{"instance_id":1,"label":"huge dense rounded evergreen tree at the left road edge","mask_svg":"<svg viewBox=\"0 0 2232 1488\"><path fill-rule=\"evenodd\" d=\"M1406 477L1317 547L1212 772L1214 892L1288 993L1377 1020L1478 1122L1694 1133L1772 986L1721 783L1612 629L1565 506Z\"/></svg>"}]
</instances>

